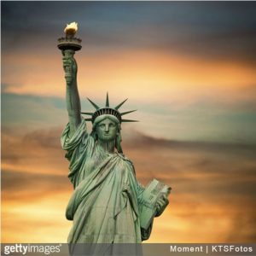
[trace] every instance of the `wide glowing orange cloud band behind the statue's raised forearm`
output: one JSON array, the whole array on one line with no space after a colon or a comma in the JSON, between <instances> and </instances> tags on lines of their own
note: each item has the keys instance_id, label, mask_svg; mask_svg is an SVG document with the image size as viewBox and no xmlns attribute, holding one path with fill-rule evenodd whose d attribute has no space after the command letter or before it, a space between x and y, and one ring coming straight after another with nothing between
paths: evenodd
<instances>
[{"instance_id":1,"label":"wide glowing orange cloud band behind the statue's raised forearm","mask_svg":"<svg viewBox=\"0 0 256 256\"><path fill-rule=\"evenodd\" d=\"M212 95L236 101L242 97L240 90L256 81L254 68L243 62L149 50L86 54L84 50L76 55L81 96L108 90L114 98L125 95L144 102L186 102ZM65 96L61 53L3 55L3 83L9 84L8 92Z\"/></svg>"}]
</instances>

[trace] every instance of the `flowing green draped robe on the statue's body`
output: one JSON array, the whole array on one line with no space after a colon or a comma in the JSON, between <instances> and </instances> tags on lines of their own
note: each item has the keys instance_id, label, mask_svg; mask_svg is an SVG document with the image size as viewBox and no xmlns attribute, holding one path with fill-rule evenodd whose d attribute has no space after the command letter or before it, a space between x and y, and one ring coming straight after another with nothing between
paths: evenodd
<instances>
[{"instance_id":1,"label":"flowing green draped robe on the statue's body","mask_svg":"<svg viewBox=\"0 0 256 256\"><path fill-rule=\"evenodd\" d=\"M73 195L66 217L73 220L68 243L140 243L148 239L141 230L138 205L143 187L137 182L131 160L108 154L86 132L84 119L70 137L67 124L61 146L70 161L68 177Z\"/></svg>"}]
</instances>

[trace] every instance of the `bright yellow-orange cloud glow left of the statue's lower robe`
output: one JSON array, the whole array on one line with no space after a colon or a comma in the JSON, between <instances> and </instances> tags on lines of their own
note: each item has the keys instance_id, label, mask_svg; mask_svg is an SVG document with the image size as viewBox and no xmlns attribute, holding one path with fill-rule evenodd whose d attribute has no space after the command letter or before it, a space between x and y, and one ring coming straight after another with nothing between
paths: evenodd
<instances>
[{"instance_id":1,"label":"bright yellow-orange cloud glow left of the statue's lower robe","mask_svg":"<svg viewBox=\"0 0 256 256\"><path fill-rule=\"evenodd\" d=\"M2 203L2 242L66 242L72 223L65 218L70 191L31 201L31 196Z\"/></svg>"}]
</instances>

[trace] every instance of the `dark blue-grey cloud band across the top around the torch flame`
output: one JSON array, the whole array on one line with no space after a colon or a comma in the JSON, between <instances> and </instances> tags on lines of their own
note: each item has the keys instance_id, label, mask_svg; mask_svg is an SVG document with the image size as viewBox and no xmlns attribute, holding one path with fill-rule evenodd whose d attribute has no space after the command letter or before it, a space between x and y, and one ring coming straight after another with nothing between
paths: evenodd
<instances>
[{"instance_id":1,"label":"dark blue-grey cloud band across the top around the torch flame","mask_svg":"<svg viewBox=\"0 0 256 256\"><path fill-rule=\"evenodd\" d=\"M3 49L50 50L63 26L76 20L86 48L164 49L254 62L255 10L253 2L5 2Z\"/></svg>"}]
</instances>

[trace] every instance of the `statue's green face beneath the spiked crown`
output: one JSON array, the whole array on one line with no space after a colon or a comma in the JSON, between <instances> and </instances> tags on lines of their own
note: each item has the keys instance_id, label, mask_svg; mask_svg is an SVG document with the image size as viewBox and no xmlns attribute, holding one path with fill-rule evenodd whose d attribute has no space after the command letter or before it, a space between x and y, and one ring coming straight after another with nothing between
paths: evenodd
<instances>
[{"instance_id":1,"label":"statue's green face beneath the spiked crown","mask_svg":"<svg viewBox=\"0 0 256 256\"><path fill-rule=\"evenodd\" d=\"M102 141L114 140L117 132L118 132L118 125L108 118L103 119L96 126L96 133L98 135L98 139Z\"/></svg>"}]
</instances>

